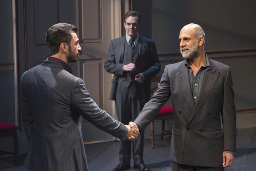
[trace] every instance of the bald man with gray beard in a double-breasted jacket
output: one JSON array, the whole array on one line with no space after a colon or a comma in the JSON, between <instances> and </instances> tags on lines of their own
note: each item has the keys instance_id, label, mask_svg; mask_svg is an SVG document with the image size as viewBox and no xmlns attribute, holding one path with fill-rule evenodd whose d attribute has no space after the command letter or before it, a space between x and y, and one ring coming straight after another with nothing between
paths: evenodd
<instances>
[{"instance_id":1,"label":"bald man with gray beard in a double-breasted jacket","mask_svg":"<svg viewBox=\"0 0 256 171\"><path fill-rule=\"evenodd\" d=\"M230 67L207 57L205 33L200 25L185 25L179 41L185 59L166 65L157 91L134 123L144 129L171 97L172 171L223 171L231 165L236 150Z\"/></svg>"}]
</instances>

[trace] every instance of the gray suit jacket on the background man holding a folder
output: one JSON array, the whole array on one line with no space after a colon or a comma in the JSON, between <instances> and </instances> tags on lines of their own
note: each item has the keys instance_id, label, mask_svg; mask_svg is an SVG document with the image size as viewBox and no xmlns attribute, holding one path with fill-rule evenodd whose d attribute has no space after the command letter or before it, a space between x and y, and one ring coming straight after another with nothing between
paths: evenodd
<instances>
[{"instance_id":1,"label":"gray suit jacket on the background man holding a folder","mask_svg":"<svg viewBox=\"0 0 256 171\"><path fill-rule=\"evenodd\" d=\"M110 100L116 100L117 84L126 81L127 71L123 71L123 58L125 53L125 36L113 39L108 48L108 57L104 64L105 70L113 73ZM139 36L137 45L139 54L149 61L151 67L143 72L145 81L143 83L135 82L137 89L137 97L140 102L146 102L150 98L150 80L160 71L160 62L157 56L157 49L154 41Z\"/></svg>"}]
</instances>

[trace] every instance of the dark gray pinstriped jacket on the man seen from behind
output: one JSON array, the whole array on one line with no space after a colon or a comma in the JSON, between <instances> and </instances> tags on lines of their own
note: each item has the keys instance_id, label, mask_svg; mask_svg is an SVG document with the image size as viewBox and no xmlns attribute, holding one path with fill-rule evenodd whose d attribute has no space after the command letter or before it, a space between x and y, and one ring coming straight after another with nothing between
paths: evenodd
<instances>
[{"instance_id":1,"label":"dark gray pinstriped jacket on the man seen from behind","mask_svg":"<svg viewBox=\"0 0 256 171\"><path fill-rule=\"evenodd\" d=\"M30 142L24 167L29 170L87 171L81 117L125 140L126 127L100 109L84 81L59 63L44 61L26 71L20 94L23 126Z\"/></svg>"}]
</instances>

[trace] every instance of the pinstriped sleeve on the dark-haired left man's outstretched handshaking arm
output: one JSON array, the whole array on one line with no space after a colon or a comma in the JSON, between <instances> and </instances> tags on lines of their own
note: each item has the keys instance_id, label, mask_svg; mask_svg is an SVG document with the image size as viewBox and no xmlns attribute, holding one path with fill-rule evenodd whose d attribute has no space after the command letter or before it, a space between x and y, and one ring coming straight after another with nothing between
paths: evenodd
<instances>
[{"instance_id":1,"label":"pinstriped sleeve on the dark-haired left man's outstretched handshaking arm","mask_svg":"<svg viewBox=\"0 0 256 171\"><path fill-rule=\"evenodd\" d=\"M73 85L71 107L97 128L108 132L114 137L125 140L128 133L125 125L116 121L107 112L98 107L93 99L90 98L81 78L77 78Z\"/></svg>"}]
</instances>

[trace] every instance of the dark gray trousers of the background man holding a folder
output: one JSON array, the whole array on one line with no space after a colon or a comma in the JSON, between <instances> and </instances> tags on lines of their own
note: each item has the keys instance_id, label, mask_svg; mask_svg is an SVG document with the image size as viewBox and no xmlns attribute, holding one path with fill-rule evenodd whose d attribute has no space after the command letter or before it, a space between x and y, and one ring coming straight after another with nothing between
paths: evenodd
<instances>
[{"instance_id":1,"label":"dark gray trousers of the background man holding a folder","mask_svg":"<svg viewBox=\"0 0 256 171\"><path fill-rule=\"evenodd\" d=\"M116 113L118 120L125 125L134 121L139 115L145 103L140 103L136 95L136 87L131 83L129 87L118 84L116 90ZM144 131L140 132L137 139L130 141L120 141L119 160L120 164L130 165L131 161L131 144L133 151L134 164L143 164L143 141Z\"/></svg>"}]
</instances>

